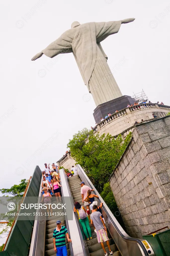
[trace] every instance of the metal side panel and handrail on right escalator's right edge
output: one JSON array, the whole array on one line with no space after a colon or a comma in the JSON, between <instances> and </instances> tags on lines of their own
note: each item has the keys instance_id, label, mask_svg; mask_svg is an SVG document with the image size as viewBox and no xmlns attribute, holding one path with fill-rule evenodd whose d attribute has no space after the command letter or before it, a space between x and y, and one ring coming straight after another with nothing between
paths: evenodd
<instances>
[{"instance_id":1,"label":"metal side panel and handrail on right escalator's right edge","mask_svg":"<svg viewBox=\"0 0 170 256\"><path fill-rule=\"evenodd\" d=\"M150 247L149 250L151 251L150 254L148 254L148 250L146 249L145 245L142 243L143 239L137 239L132 238L128 236L128 234L123 230L119 222L116 220L102 197L99 195L98 191L94 187L94 185L91 183L90 179L87 177L86 173L82 169L82 167L78 164L76 165L77 172L82 179L82 181L85 183L85 185L91 187L94 189L94 194L99 196L99 199L95 198L96 201L99 203L103 202L102 207L102 215L104 217L104 220L106 221L106 226L117 246L122 256L153 256L155 255L152 248Z\"/></svg>"}]
</instances>

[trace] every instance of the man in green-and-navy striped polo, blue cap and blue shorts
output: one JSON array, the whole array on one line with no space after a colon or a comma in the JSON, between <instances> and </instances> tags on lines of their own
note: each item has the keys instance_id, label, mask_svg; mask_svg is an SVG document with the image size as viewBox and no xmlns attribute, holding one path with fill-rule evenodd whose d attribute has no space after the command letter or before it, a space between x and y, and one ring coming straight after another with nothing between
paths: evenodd
<instances>
[{"instance_id":1,"label":"man in green-and-navy striped polo, blue cap and blue shorts","mask_svg":"<svg viewBox=\"0 0 170 256\"><path fill-rule=\"evenodd\" d=\"M57 252L57 256L67 256L65 235L68 242L71 243L69 233L65 226L61 226L60 220L57 220L56 224L57 228L53 231L54 251Z\"/></svg>"}]
</instances>

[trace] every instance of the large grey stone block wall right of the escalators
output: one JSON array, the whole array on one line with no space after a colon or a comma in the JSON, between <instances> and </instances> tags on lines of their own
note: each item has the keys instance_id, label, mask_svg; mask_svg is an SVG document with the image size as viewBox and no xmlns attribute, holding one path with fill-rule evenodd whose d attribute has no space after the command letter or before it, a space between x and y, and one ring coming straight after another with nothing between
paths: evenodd
<instances>
[{"instance_id":1,"label":"large grey stone block wall right of the escalators","mask_svg":"<svg viewBox=\"0 0 170 256\"><path fill-rule=\"evenodd\" d=\"M130 236L170 227L170 116L135 127L109 183Z\"/></svg>"}]
</instances>

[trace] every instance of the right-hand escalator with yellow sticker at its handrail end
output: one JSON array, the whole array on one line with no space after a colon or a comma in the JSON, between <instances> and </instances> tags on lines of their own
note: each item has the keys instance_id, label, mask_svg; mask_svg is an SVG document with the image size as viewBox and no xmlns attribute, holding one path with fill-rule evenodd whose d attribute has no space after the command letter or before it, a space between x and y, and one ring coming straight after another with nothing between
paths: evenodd
<instances>
[{"instance_id":1,"label":"right-hand escalator with yellow sticker at its handrail end","mask_svg":"<svg viewBox=\"0 0 170 256\"><path fill-rule=\"evenodd\" d=\"M95 201L98 201L98 205L100 205L101 202L103 202L102 207L102 215L104 217L104 220L106 222L107 232L108 232L108 238L111 250L113 251L114 256L122 255L122 256L154 256L154 252L150 246L150 244L143 240L143 239L137 239L130 237L121 227L121 225L118 223L106 203L103 201L99 193L97 192L94 185L91 183L90 179L85 174L84 170L81 168L80 165L76 165L78 175L66 178L66 175L64 174L66 184L69 191L69 196L72 198L72 209L74 208L74 202L78 201L81 205L84 205L82 203L82 197L81 197L81 186L79 185L81 181L85 183L85 185L89 186L91 189L94 189L93 193L95 195L98 195L99 198L95 198ZM64 173L64 170L63 170ZM104 251L101 248L100 243L97 242L96 233L94 232L94 228L90 224L90 228L92 231L92 237L93 239L86 241L84 238L84 234L82 231L82 227L80 225L80 222L78 220L78 215L74 213L74 215L77 218L77 227L81 230L81 235L83 237L83 247L86 249L86 255L89 256L98 256L98 255L104 255ZM147 245L147 246L146 246ZM104 243L105 249L109 254L109 249L106 246L106 243ZM85 254L84 254L85 255Z\"/></svg>"}]
</instances>

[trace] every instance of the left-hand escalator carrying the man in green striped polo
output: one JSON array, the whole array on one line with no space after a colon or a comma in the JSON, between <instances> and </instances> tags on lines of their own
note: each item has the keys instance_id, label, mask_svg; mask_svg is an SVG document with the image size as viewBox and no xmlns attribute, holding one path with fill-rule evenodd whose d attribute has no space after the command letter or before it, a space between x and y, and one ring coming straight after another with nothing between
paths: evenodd
<instances>
[{"instance_id":1,"label":"left-hand escalator carrying the man in green striped polo","mask_svg":"<svg viewBox=\"0 0 170 256\"><path fill-rule=\"evenodd\" d=\"M66 185L66 180L64 178L65 173L61 173L61 203L66 203L66 196L69 197L69 192ZM41 183L40 183L40 193L39 193L39 202L42 200L41 193ZM57 203L57 198L53 195L51 198L51 204ZM67 201L68 203L68 201ZM67 204L66 204L67 205ZM71 206L71 204L70 204ZM34 221L34 228L31 240L31 247L29 256L56 256L54 251L53 244L53 231L56 228L56 221L61 220L61 225L67 228L69 236L72 240L72 243L68 243L68 240L65 236L66 248L68 256L88 256L86 254L85 248L83 247L83 240L80 238L79 230L77 228L77 223L73 215L72 220L68 220L68 211L67 209L53 209L53 216L49 216L47 219L44 217L44 212L42 210L37 210L37 220ZM42 212L42 214L41 214ZM56 214L55 214L56 213ZM64 214L62 216L62 214ZM51 214L49 214L51 215ZM76 244L77 243L77 244Z\"/></svg>"}]
</instances>

